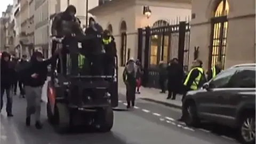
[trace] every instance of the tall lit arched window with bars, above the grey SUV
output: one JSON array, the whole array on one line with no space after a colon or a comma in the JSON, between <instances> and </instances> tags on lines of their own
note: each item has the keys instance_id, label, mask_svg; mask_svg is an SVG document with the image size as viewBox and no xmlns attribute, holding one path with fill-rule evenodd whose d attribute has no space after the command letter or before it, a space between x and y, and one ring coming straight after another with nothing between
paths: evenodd
<instances>
[{"instance_id":1,"label":"tall lit arched window with bars, above the grey SUV","mask_svg":"<svg viewBox=\"0 0 256 144\"><path fill-rule=\"evenodd\" d=\"M227 15L229 13L228 0L221 0L214 10L212 18L212 35L211 35L211 63L209 65L214 66L215 63L220 62L224 68L226 59L226 47L227 47L227 31L228 20Z\"/></svg>"}]
</instances>

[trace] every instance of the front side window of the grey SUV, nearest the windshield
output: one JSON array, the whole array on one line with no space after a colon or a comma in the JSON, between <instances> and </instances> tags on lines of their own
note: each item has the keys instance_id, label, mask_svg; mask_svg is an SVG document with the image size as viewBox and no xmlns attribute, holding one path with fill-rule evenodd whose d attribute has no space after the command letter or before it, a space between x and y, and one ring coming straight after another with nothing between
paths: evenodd
<instances>
[{"instance_id":1,"label":"front side window of the grey SUV, nearest the windshield","mask_svg":"<svg viewBox=\"0 0 256 144\"><path fill-rule=\"evenodd\" d=\"M230 78L236 73L236 69L228 69L225 71L222 71L220 74L218 74L216 77L210 81L210 87L211 88L224 88L228 87Z\"/></svg>"}]
</instances>

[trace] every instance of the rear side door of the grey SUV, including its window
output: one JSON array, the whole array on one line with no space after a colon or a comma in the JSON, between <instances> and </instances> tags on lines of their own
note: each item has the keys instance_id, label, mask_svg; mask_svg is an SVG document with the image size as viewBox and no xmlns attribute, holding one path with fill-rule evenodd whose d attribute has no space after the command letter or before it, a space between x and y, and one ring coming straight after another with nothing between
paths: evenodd
<instances>
[{"instance_id":1,"label":"rear side door of the grey SUV, including its window","mask_svg":"<svg viewBox=\"0 0 256 144\"><path fill-rule=\"evenodd\" d=\"M255 90L255 69L237 68L226 89L218 98L219 117L222 122L235 121L236 109L243 100L243 93L252 89Z\"/></svg>"}]
</instances>

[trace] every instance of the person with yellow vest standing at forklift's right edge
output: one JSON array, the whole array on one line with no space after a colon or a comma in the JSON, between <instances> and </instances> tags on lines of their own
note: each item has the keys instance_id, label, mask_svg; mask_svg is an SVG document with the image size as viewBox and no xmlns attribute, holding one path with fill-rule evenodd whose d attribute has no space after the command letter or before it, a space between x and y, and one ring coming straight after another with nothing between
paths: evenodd
<instances>
[{"instance_id":1,"label":"person with yellow vest standing at forklift's right edge","mask_svg":"<svg viewBox=\"0 0 256 144\"><path fill-rule=\"evenodd\" d=\"M115 56L116 56L116 43L112 38L109 30L103 31L102 43L105 50L104 62L104 75L113 76L115 73Z\"/></svg>"}]
</instances>

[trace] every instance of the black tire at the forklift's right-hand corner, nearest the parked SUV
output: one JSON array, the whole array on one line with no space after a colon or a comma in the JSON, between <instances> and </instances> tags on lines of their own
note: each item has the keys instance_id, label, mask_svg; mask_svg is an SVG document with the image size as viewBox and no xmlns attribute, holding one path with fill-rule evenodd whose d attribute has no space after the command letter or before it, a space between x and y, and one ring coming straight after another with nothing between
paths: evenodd
<instances>
[{"instance_id":1,"label":"black tire at the forklift's right-hand corner, nearest the parked SUV","mask_svg":"<svg viewBox=\"0 0 256 144\"><path fill-rule=\"evenodd\" d=\"M99 132L109 132L114 125L114 112L111 106L102 108L99 111L99 115L102 115L100 119Z\"/></svg>"}]
</instances>

